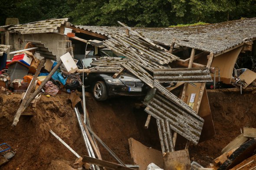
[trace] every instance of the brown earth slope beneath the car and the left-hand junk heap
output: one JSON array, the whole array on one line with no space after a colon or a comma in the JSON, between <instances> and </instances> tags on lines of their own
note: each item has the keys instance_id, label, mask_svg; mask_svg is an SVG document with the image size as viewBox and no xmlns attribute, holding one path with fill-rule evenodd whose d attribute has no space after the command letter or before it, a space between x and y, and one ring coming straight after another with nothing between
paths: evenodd
<instances>
[{"instance_id":1,"label":"brown earth slope beneath the car and the left-hand junk heap","mask_svg":"<svg viewBox=\"0 0 256 170\"><path fill-rule=\"evenodd\" d=\"M90 94L86 95L92 129L125 164L133 164L128 138L135 138L160 149L156 124L152 123L149 129L143 128L147 114L143 110L133 109L134 99L118 98L97 102ZM56 170L62 170L57 165L63 160L66 160L63 164L72 166L76 157L49 133L49 129L80 156L86 155L82 134L68 96L66 93L50 98L42 96L35 109L29 107L25 111L35 115L21 116L17 126L12 127L21 95L0 94L0 142L7 142L16 151L16 155L1 170L18 167L20 170L46 170L53 167L53 164ZM115 162L108 151L98 145L102 158Z\"/></svg>"}]
</instances>

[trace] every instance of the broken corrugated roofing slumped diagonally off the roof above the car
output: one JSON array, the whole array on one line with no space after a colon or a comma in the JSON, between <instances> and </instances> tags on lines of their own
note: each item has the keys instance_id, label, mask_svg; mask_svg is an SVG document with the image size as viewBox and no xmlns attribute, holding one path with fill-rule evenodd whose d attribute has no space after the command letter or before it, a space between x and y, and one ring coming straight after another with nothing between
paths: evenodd
<instances>
[{"instance_id":1,"label":"broken corrugated roofing slumped diagonally off the roof above the car","mask_svg":"<svg viewBox=\"0 0 256 170\"><path fill-rule=\"evenodd\" d=\"M103 42L103 45L149 71L156 68L166 68L163 66L164 64L178 58L164 50L147 45L147 43L140 41L137 36L133 35L111 35Z\"/></svg>"}]
</instances>

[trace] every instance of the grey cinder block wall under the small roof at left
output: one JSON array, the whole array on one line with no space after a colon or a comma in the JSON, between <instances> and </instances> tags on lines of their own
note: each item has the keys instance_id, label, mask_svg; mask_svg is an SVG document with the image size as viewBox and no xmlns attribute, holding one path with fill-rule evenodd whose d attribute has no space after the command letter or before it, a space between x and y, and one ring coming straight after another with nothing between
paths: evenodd
<instances>
[{"instance_id":1,"label":"grey cinder block wall under the small roof at left","mask_svg":"<svg viewBox=\"0 0 256 170\"><path fill-rule=\"evenodd\" d=\"M17 51L24 49L26 46L25 40L40 41L49 48L50 51L53 51L53 54L56 55L57 61L59 57L66 53L66 40L69 40L68 37L54 34L54 33L37 33L37 34L14 34L13 35L13 48L11 51ZM22 42L22 43L19 43ZM13 57L13 56L11 56Z\"/></svg>"}]
</instances>

